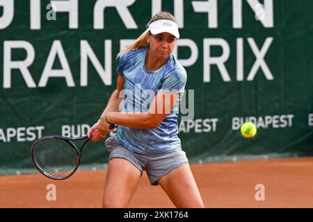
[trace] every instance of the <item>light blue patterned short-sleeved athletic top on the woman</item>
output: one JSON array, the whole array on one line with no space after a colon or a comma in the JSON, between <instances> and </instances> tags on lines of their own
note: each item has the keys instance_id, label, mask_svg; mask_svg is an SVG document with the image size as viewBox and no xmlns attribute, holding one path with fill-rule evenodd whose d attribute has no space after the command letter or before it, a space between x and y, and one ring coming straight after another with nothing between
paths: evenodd
<instances>
[{"instance_id":1,"label":"light blue patterned short-sleeved athletic top on the woman","mask_svg":"<svg viewBox=\"0 0 313 222\"><path fill-rule=\"evenodd\" d=\"M121 112L147 112L154 96L164 92L179 92L174 108L157 128L134 129L118 126L117 142L129 151L141 154L154 154L169 151L180 145L177 136L179 102L184 94L187 74L174 56L157 71L145 69L147 48L128 51L120 58L118 74L125 78L124 101Z\"/></svg>"}]
</instances>

